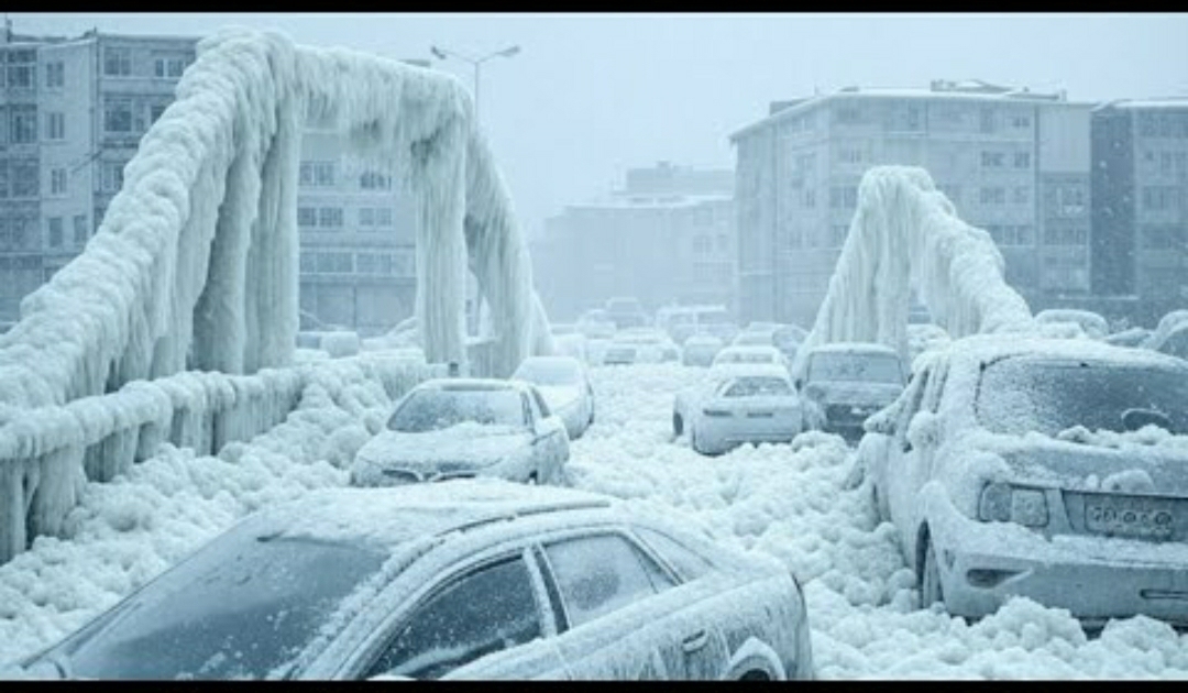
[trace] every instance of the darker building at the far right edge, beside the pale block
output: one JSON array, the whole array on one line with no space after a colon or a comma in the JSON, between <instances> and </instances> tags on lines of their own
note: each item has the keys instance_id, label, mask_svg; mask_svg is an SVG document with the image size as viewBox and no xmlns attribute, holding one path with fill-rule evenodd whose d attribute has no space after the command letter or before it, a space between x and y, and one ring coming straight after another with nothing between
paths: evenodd
<instances>
[{"instance_id":1,"label":"darker building at the far right edge, beside the pale block","mask_svg":"<svg viewBox=\"0 0 1188 693\"><path fill-rule=\"evenodd\" d=\"M1093 292L1154 326L1188 305L1188 99L1093 109Z\"/></svg>"}]
</instances>

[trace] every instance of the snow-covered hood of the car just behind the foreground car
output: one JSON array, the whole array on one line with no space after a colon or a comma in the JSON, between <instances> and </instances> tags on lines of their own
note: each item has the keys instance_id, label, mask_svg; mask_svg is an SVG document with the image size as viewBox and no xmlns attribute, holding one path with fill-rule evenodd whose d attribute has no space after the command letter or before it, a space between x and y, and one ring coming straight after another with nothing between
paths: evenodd
<instances>
[{"instance_id":1,"label":"snow-covered hood of the car just behind the foreground car","mask_svg":"<svg viewBox=\"0 0 1188 693\"><path fill-rule=\"evenodd\" d=\"M503 426L462 424L425 433L385 430L359 449L355 465L462 471L526 455L531 445L529 431Z\"/></svg>"}]
</instances>

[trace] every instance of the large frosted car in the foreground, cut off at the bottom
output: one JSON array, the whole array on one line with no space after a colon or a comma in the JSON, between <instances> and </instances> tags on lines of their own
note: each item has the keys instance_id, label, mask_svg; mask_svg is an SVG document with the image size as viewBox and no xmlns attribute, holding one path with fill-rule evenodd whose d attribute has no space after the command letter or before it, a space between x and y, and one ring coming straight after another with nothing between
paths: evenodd
<instances>
[{"instance_id":1,"label":"large frosted car in the foreground, cut off at the bottom","mask_svg":"<svg viewBox=\"0 0 1188 693\"><path fill-rule=\"evenodd\" d=\"M634 502L473 479L273 505L21 664L97 680L781 680L813 678L813 650L775 557Z\"/></svg>"}]
</instances>

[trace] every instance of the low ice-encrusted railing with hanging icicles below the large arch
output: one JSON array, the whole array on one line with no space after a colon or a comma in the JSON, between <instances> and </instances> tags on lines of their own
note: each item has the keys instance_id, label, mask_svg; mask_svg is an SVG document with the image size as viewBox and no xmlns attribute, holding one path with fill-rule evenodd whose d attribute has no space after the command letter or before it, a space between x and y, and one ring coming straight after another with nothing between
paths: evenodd
<instances>
[{"instance_id":1,"label":"low ice-encrusted railing with hanging icicles below the large arch","mask_svg":"<svg viewBox=\"0 0 1188 693\"><path fill-rule=\"evenodd\" d=\"M114 479L164 442L201 456L248 441L282 423L311 384L336 397L345 368L380 383L392 401L446 374L444 365L377 352L253 376L188 371L21 412L0 429L0 563L38 535L61 536L87 481Z\"/></svg>"}]
</instances>

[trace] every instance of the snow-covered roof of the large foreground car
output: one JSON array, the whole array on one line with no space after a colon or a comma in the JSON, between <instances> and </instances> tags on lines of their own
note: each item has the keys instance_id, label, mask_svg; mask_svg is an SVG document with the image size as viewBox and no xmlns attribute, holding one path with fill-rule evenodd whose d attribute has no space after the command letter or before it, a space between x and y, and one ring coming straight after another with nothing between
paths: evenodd
<instances>
[{"instance_id":1,"label":"snow-covered roof of the large foreground car","mask_svg":"<svg viewBox=\"0 0 1188 693\"><path fill-rule=\"evenodd\" d=\"M611 508L608 497L476 478L381 489L320 489L255 516L272 537L388 550L455 530L529 515Z\"/></svg>"}]
</instances>

